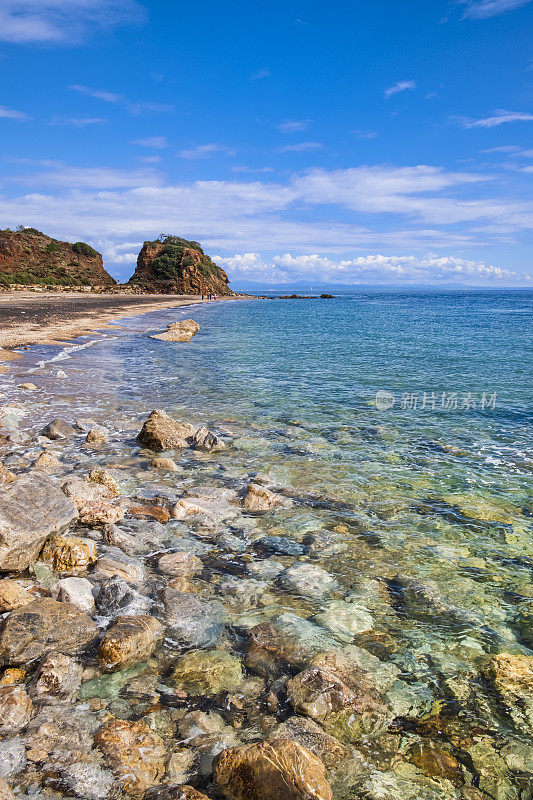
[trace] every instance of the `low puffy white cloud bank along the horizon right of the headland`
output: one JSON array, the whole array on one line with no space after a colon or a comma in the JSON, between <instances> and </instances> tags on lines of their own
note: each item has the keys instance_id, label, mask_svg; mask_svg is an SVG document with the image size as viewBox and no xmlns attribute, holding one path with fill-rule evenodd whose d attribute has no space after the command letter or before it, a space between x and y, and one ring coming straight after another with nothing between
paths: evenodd
<instances>
[{"instance_id":1,"label":"low puffy white cloud bank along the horizon right of the headland","mask_svg":"<svg viewBox=\"0 0 533 800\"><path fill-rule=\"evenodd\" d=\"M530 276L483 261L453 256L381 254L362 255L349 259L332 259L285 253L264 259L259 253L235 254L227 258L215 256L233 280L254 280L266 283L291 283L299 280L325 283L443 283L465 285L530 285Z\"/></svg>"}]
</instances>

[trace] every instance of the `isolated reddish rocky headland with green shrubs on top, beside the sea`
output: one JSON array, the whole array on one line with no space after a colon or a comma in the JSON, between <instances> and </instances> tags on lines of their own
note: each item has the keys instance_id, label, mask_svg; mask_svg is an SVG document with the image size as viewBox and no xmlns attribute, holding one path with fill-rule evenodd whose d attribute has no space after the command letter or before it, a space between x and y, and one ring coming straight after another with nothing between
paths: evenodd
<instances>
[{"instance_id":1,"label":"isolated reddish rocky headland with green shrubs on top, beside the sea","mask_svg":"<svg viewBox=\"0 0 533 800\"><path fill-rule=\"evenodd\" d=\"M168 294L233 294L228 282L198 242L179 236L145 242L129 280L146 291Z\"/></svg>"}]
</instances>

